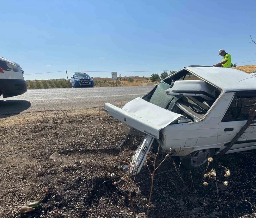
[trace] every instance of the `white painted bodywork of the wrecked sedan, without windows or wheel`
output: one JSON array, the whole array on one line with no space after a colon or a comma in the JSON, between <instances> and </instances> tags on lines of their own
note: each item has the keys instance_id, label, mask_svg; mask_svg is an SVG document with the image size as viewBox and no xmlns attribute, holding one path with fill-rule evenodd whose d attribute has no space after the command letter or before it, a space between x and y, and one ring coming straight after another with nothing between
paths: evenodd
<instances>
[{"instance_id":1,"label":"white painted bodywork of the wrecked sedan, without windows or wheel","mask_svg":"<svg viewBox=\"0 0 256 218\"><path fill-rule=\"evenodd\" d=\"M223 117L226 114L227 109L230 107L236 92L240 93L239 91L247 91L246 93L248 94L248 91L250 91L252 92L252 95L250 96L253 96L252 98L256 98L256 77L248 73L230 68L191 67L174 73L173 75L165 78L164 81L167 81L166 79L168 78L175 78L175 75L182 73L182 71L191 72L203 81L197 80L199 83L193 86L193 83L196 83L195 81L188 82L176 80L172 86L170 85L173 87L173 89L169 88L165 90L166 94L170 96L176 96L176 94L171 93L171 91L175 90L177 87L181 87L182 90L183 84L188 84L188 86L190 84L193 86L190 88L187 87L183 90L196 90L199 89L199 87L201 87L200 90L204 90L205 87L203 83L205 82L211 84L218 90L218 97L216 100L213 100L214 102L210 108L208 107L208 111L205 114L202 114L201 117L194 118L193 122L174 122L180 117L179 115L181 114L173 113L167 109L161 108L163 106L159 107L147 102L149 100L144 100L147 99L147 96L150 96L151 91L142 97L144 99L136 98L135 100L128 102L122 109L117 108L109 103L105 104L105 109L110 115L116 117L122 122L124 122L124 118L127 115L130 115L129 122L125 123L134 129L144 132L146 135L148 135L148 137L155 137L159 145L166 152L172 150L171 155L173 156L187 156L196 150L210 148L214 148L215 154L217 154L228 145L228 143L246 123L246 120L226 122L225 120L223 121ZM154 91L155 88L152 90L152 92L154 93ZM208 90L207 93L211 92ZM186 96L186 94L182 93L179 95ZM200 97L204 98L203 96ZM207 98L204 99L207 100ZM182 109L179 107L178 102L176 102L176 105L179 109ZM184 110L183 112L187 113L187 111ZM151 146L152 143L148 143L148 145L149 144ZM137 159L142 160L138 157L145 157L150 146L147 146L146 152L142 152L140 147L143 146L144 145L142 141L141 145L133 155L133 159L134 157L137 157ZM227 154L255 148L256 128L249 127L238 139L238 141L231 147L231 149L228 150ZM138 152L142 153L140 154ZM135 173L135 166L136 169L140 170L141 168L141 163L139 162L140 161L138 160L132 161L132 171Z\"/></svg>"}]
</instances>

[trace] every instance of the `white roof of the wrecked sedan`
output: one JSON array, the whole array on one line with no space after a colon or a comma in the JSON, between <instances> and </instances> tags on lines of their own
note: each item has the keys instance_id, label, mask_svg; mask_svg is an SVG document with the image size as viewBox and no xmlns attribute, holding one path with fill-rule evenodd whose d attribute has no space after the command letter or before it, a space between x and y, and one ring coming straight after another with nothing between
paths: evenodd
<instances>
[{"instance_id":1,"label":"white roof of the wrecked sedan","mask_svg":"<svg viewBox=\"0 0 256 218\"><path fill-rule=\"evenodd\" d=\"M256 77L232 68L185 68L224 91L256 90Z\"/></svg>"}]
</instances>

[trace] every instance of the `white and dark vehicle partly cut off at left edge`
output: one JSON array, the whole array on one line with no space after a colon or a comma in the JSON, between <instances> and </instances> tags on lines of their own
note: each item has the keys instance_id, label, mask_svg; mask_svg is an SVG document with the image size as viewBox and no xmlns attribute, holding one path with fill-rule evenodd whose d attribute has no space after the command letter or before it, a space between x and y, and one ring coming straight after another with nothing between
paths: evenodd
<instances>
[{"instance_id":1,"label":"white and dark vehicle partly cut off at left edge","mask_svg":"<svg viewBox=\"0 0 256 218\"><path fill-rule=\"evenodd\" d=\"M27 82L20 65L0 57L0 96L3 98L22 95L27 91Z\"/></svg>"}]
</instances>

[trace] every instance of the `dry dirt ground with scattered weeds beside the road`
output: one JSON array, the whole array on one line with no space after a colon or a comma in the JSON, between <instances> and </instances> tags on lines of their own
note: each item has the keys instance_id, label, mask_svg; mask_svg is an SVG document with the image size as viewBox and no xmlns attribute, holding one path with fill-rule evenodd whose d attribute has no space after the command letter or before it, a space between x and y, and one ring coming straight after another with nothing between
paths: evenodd
<instances>
[{"instance_id":1,"label":"dry dirt ground with scattered weeds beside the road","mask_svg":"<svg viewBox=\"0 0 256 218\"><path fill-rule=\"evenodd\" d=\"M129 161L139 144L115 149L126 136L122 126L99 109L2 118L0 217L123 218L133 217L132 208L135 217L145 217L152 164L147 161L130 179L120 170L119 160ZM159 155L157 164L163 158ZM206 169L190 172L179 159L168 158L154 177L149 217L256 217L255 163L255 150L227 154L209 165L216 177L204 178ZM33 201L40 206L20 214L20 207Z\"/></svg>"}]
</instances>

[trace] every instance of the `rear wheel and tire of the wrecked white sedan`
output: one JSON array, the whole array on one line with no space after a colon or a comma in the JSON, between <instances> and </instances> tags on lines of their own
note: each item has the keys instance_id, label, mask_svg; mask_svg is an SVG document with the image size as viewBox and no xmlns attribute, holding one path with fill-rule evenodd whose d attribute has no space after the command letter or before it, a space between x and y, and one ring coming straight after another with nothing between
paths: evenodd
<instances>
[{"instance_id":1,"label":"rear wheel and tire of the wrecked white sedan","mask_svg":"<svg viewBox=\"0 0 256 218\"><path fill-rule=\"evenodd\" d=\"M188 158L182 159L182 165L187 169L201 169L208 164L208 158L212 158L215 149L202 149L192 152Z\"/></svg>"}]
</instances>

